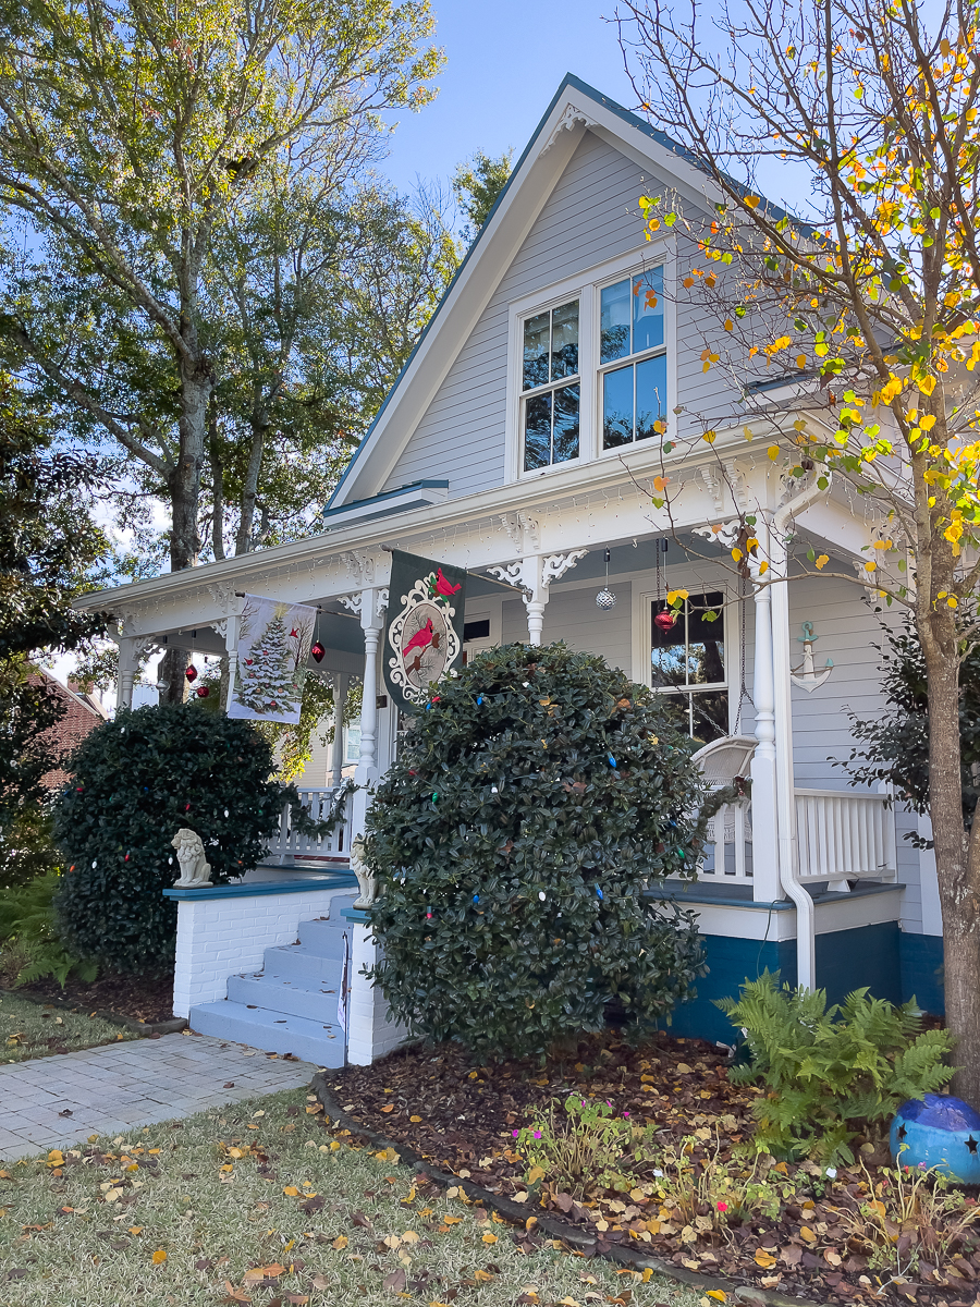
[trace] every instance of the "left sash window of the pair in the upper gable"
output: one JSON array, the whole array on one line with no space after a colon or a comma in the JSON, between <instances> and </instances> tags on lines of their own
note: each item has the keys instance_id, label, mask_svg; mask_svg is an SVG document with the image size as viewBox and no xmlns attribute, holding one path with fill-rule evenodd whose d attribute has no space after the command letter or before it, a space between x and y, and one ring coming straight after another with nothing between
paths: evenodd
<instances>
[{"instance_id":1,"label":"left sash window of the pair in the upper gable","mask_svg":"<svg viewBox=\"0 0 980 1307\"><path fill-rule=\"evenodd\" d=\"M524 320L524 471L579 456L579 301Z\"/></svg>"}]
</instances>

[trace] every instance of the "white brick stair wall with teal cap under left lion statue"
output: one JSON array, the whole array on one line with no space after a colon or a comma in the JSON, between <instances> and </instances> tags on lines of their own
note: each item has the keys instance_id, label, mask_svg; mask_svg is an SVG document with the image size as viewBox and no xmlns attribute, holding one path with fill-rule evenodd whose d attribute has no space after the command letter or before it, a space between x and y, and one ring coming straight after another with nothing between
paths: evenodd
<instances>
[{"instance_id":1,"label":"white brick stair wall with teal cap under left lion statue","mask_svg":"<svg viewBox=\"0 0 980 1307\"><path fill-rule=\"evenodd\" d=\"M200 1002L226 997L227 978L261 971L263 954L294 944L301 921L329 916L331 899L348 899L349 886L312 885L269 893L256 885L223 890L165 890L178 899L174 1016L187 1017Z\"/></svg>"}]
</instances>

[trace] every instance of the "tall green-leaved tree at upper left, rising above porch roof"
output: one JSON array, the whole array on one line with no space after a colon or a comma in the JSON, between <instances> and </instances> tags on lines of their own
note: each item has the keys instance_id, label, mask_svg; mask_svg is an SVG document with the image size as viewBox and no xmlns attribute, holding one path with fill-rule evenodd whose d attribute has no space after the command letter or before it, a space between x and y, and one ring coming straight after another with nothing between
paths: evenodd
<instances>
[{"instance_id":1,"label":"tall green-leaved tree at upper left, rising above porch roof","mask_svg":"<svg viewBox=\"0 0 980 1307\"><path fill-rule=\"evenodd\" d=\"M50 288L43 302L10 288L7 339L39 388L166 485L172 570L200 552L216 230L273 166L332 166L380 110L422 106L431 26L426 0L0 7L0 204Z\"/></svg>"}]
</instances>

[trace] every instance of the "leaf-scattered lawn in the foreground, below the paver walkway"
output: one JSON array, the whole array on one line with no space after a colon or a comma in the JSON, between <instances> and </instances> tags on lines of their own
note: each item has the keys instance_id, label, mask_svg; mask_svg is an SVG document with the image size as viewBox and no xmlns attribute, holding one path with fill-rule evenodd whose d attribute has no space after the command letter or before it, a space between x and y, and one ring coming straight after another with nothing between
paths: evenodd
<instances>
[{"instance_id":1,"label":"leaf-scattered lawn in the foreground, below the paver walkway","mask_svg":"<svg viewBox=\"0 0 980 1307\"><path fill-rule=\"evenodd\" d=\"M544 1239L523 1252L511 1226L416 1191L409 1168L335 1140L307 1106L289 1090L0 1171L0 1302L591 1307L630 1289L632 1307L695 1307L702 1297Z\"/></svg>"}]
</instances>

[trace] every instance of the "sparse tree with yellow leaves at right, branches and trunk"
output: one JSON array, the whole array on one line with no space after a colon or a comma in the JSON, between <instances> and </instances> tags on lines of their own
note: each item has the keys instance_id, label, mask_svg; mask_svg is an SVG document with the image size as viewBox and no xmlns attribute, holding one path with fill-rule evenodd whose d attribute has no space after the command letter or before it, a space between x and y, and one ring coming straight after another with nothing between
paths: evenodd
<instances>
[{"instance_id":1,"label":"sparse tree with yellow leaves at right, branches and trunk","mask_svg":"<svg viewBox=\"0 0 980 1307\"><path fill-rule=\"evenodd\" d=\"M946 1016L956 1089L973 1102L980 825L962 806L958 701L980 588L977 17L970 3L926 14L913 0L741 0L704 33L694 8L621 8L645 108L704 174L706 207L640 199L649 233L673 225L694 251L678 255L678 293L716 315L704 367L728 366L749 395L757 378L800 383L796 420L768 455L865 498L875 529L864 575L838 575L904 610L921 644ZM809 187L796 205L806 221L762 196L760 175L793 170ZM713 439L706 423L687 448ZM665 480L659 495L669 505ZM732 554L738 566L755 555L758 576L757 537L743 516ZM834 570L827 554L800 563Z\"/></svg>"}]
</instances>

